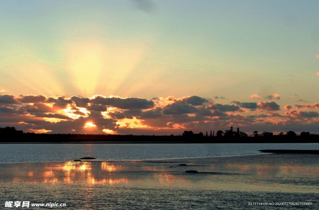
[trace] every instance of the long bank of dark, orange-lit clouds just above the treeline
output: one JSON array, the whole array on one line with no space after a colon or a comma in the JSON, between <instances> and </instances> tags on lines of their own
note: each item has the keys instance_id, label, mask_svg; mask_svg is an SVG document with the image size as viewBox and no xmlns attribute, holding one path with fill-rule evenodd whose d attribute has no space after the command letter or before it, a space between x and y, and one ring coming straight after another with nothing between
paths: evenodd
<instances>
[{"instance_id":1,"label":"long bank of dark, orange-lit clouds just above the treeline","mask_svg":"<svg viewBox=\"0 0 319 210\"><path fill-rule=\"evenodd\" d=\"M0 101L0 127L16 127L25 132L44 129L52 133L95 134L112 130L118 134L161 135L180 134L183 130L226 130L230 126L243 131L278 131L308 125L315 130L315 125L319 125L317 112L294 111L291 105L286 105L288 112L280 113L277 112L280 105L274 101L220 104L198 96L147 100L102 95L90 98L2 95ZM296 105L296 108L319 109L319 103ZM85 127L87 123L95 126Z\"/></svg>"}]
</instances>

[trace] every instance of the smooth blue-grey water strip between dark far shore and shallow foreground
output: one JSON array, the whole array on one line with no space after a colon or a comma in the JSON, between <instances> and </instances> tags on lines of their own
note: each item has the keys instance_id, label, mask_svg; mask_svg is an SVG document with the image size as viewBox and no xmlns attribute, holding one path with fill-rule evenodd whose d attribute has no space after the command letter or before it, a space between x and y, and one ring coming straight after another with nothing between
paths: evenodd
<instances>
[{"instance_id":1,"label":"smooth blue-grey water strip between dark far shore and shallow foreground","mask_svg":"<svg viewBox=\"0 0 319 210\"><path fill-rule=\"evenodd\" d=\"M0 144L0 163L155 160L260 154L260 149L319 149L319 143L289 144Z\"/></svg>"}]
</instances>

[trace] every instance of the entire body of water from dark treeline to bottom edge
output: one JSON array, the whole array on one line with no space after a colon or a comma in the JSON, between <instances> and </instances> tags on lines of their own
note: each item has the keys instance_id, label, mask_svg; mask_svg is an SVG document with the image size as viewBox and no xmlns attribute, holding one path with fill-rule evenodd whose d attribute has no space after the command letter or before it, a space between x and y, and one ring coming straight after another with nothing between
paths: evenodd
<instances>
[{"instance_id":1,"label":"entire body of water from dark treeline to bottom edge","mask_svg":"<svg viewBox=\"0 0 319 210\"><path fill-rule=\"evenodd\" d=\"M0 209L319 209L319 155L261 149L319 144L0 144Z\"/></svg>"}]
</instances>

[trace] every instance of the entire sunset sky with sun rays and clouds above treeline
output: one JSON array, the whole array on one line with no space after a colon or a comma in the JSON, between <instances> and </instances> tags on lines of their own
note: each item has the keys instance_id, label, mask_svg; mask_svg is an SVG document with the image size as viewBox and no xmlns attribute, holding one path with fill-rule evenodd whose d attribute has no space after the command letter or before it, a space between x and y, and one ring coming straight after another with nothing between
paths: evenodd
<instances>
[{"instance_id":1,"label":"entire sunset sky with sun rays and clouds above treeline","mask_svg":"<svg viewBox=\"0 0 319 210\"><path fill-rule=\"evenodd\" d=\"M319 133L318 1L0 1L0 127Z\"/></svg>"}]
</instances>

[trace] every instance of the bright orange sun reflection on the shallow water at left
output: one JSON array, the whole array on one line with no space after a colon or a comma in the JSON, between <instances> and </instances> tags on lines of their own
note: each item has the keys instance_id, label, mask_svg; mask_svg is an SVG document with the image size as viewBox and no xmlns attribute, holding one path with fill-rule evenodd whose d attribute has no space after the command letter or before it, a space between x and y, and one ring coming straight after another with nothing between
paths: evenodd
<instances>
[{"instance_id":1,"label":"bright orange sun reflection on the shallow water at left","mask_svg":"<svg viewBox=\"0 0 319 210\"><path fill-rule=\"evenodd\" d=\"M87 183L87 184L121 184L128 183L125 177L113 176L114 172L122 166L104 162L74 162L63 163L24 163L20 168L18 164L7 164L5 171L0 171L2 181L27 183ZM112 172L112 173L110 173Z\"/></svg>"}]
</instances>

